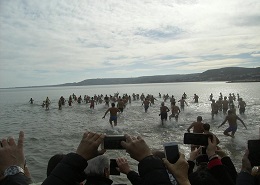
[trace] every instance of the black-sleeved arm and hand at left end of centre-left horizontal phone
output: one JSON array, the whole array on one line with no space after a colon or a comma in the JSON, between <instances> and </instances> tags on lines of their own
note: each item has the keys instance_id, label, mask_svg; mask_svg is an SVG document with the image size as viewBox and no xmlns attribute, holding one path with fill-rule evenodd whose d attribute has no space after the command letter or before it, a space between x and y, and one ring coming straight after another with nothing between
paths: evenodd
<instances>
[{"instance_id":1,"label":"black-sleeved arm and hand at left end of centre-left horizontal phone","mask_svg":"<svg viewBox=\"0 0 260 185\"><path fill-rule=\"evenodd\" d=\"M105 150L98 151L103 139L104 134L85 132L76 152L65 155L42 185L71 185L84 181L88 160L105 153Z\"/></svg>"}]
</instances>

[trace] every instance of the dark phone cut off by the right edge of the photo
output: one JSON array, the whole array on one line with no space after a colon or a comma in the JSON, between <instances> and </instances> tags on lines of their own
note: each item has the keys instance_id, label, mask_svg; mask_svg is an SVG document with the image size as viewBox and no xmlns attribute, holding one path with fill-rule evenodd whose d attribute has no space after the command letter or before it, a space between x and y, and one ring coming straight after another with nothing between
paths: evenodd
<instances>
[{"instance_id":1,"label":"dark phone cut off by the right edge of the photo","mask_svg":"<svg viewBox=\"0 0 260 185\"><path fill-rule=\"evenodd\" d=\"M251 166L260 166L260 139L248 140L247 147L249 150L248 159L251 163Z\"/></svg>"}]
</instances>

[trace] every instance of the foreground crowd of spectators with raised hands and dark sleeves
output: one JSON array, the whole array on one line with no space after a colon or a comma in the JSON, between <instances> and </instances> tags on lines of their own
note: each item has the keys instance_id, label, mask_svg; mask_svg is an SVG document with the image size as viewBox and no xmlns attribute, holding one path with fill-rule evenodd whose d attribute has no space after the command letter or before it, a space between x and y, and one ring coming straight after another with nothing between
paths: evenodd
<instances>
[{"instance_id":1,"label":"foreground crowd of spectators with raised hands and dark sleeves","mask_svg":"<svg viewBox=\"0 0 260 185\"><path fill-rule=\"evenodd\" d=\"M105 135L85 132L75 152L55 154L48 163L47 177L42 185L110 185L109 158L99 150ZM125 135L121 145L130 157L138 161L138 172L125 158L117 158L118 170L126 174L133 185L256 185L259 168L252 171L246 150L241 171L237 173L231 158L217 147L216 137L208 139L207 162L199 162L201 148L190 153L188 160L180 153L171 164L160 151L152 151L140 136ZM26 168L24 133L18 142L13 137L1 140L0 185L27 185L31 177ZM259 156L260 157L260 156ZM258 170L258 171L257 171Z\"/></svg>"}]
</instances>

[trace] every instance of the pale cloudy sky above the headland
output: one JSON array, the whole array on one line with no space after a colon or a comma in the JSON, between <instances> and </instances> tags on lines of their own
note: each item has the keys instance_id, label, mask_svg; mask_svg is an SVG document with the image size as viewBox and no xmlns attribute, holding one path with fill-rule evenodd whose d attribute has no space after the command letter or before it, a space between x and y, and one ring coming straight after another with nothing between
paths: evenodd
<instances>
[{"instance_id":1,"label":"pale cloudy sky above the headland","mask_svg":"<svg viewBox=\"0 0 260 185\"><path fill-rule=\"evenodd\" d=\"M259 0L0 1L0 88L259 66Z\"/></svg>"}]
</instances>

